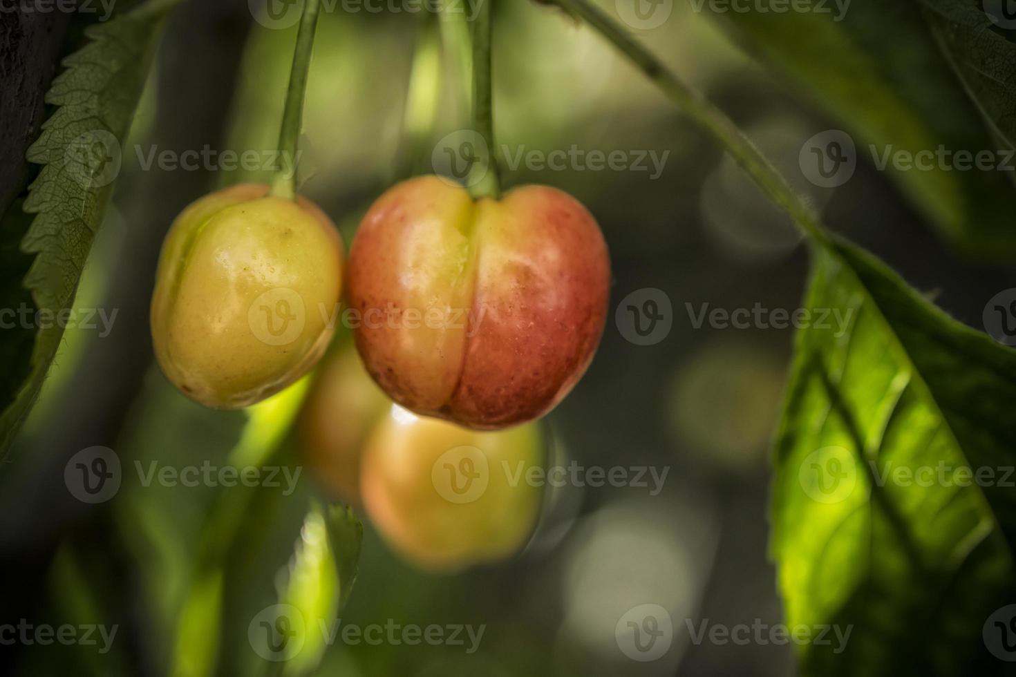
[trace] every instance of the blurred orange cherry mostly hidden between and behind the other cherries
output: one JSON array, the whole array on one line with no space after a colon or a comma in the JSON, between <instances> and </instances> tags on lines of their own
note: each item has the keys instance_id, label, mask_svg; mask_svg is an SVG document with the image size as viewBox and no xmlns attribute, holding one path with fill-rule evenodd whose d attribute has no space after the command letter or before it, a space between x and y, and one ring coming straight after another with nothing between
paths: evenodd
<instances>
[{"instance_id":1,"label":"blurred orange cherry mostly hidden between and behind the other cherries","mask_svg":"<svg viewBox=\"0 0 1016 677\"><path fill-rule=\"evenodd\" d=\"M363 447L391 400L367 374L352 342L322 360L300 413L300 450L334 498L359 504Z\"/></svg>"}]
</instances>

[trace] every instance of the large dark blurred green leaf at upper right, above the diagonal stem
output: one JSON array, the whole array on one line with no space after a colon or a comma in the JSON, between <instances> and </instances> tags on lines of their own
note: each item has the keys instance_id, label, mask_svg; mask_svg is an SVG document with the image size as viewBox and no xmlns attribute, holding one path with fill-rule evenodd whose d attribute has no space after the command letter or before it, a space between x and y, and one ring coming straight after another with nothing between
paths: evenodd
<instances>
[{"instance_id":1,"label":"large dark blurred green leaf at upper right, above the diagonal stem","mask_svg":"<svg viewBox=\"0 0 1016 677\"><path fill-rule=\"evenodd\" d=\"M888 148L997 149L912 3L854 0L842 15L836 3L826 6L829 13L732 11L719 18L843 126L860 161L874 164L871 146L880 161ZM1016 71L1005 67L1012 79ZM1011 172L900 171L891 161L885 172L956 246L992 256L1016 252Z\"/></svg>"}]
</instances>

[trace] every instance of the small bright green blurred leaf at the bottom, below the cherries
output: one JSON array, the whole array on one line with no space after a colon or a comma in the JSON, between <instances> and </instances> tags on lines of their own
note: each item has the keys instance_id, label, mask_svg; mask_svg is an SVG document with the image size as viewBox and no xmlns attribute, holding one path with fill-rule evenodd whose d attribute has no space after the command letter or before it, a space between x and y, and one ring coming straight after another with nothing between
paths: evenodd
<instances>
[{"instance_id":1,"label":"small bright green blurred leaf at the bottom, below the cherries","mask_svg":"<svg viewBox=\"0 0 1016 677\"><path fill-rule=\"evenodd\" d=\"M251 634L259 655L284 661L281 674L310 675L321 662L356 581L362 539L363 526L348 507L315 505L307 514L279 603L259 614L271 638Z\"/></svg>"}]
</instances>

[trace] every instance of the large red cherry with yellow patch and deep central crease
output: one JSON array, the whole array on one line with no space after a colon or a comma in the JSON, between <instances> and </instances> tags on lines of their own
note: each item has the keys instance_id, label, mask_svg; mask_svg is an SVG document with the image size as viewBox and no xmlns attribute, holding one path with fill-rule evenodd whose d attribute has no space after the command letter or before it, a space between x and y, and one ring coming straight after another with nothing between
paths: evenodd
<instances>
[{"instance_id":1,"label":"large red cherry with yellow patch and deep central crease","mask_svg":"<svg viewBox=\"0 0 1016 677\"><path fill-rule=\"evenodd\" d=\"M357 348L388 395L493 429L544 415L581 378L611 269L599 226L566 193L524 186L473 200L421 177L368 211L346 282Z\"/></svg>"}]
</instances>

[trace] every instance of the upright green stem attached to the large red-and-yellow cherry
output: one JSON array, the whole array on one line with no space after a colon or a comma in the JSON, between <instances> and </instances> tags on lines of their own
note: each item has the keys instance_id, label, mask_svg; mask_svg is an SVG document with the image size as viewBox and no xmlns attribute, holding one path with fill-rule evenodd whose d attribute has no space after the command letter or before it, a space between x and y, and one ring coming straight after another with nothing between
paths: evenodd
<instances>
[{"instance_id":1,"label":"upright green stem attached to the large red-and-yellow cherry","mask_svg":"<svg viewBox=\"0 0 1016 677\"><path fill-rule=\"evenodd\" d=\"M474 199L501 197L497 145L494 143L494 105L491 92L491 3L481 0L472 24L472 129L487 144L472 165L469 185Z\"/></svg>"}]
</instances>

